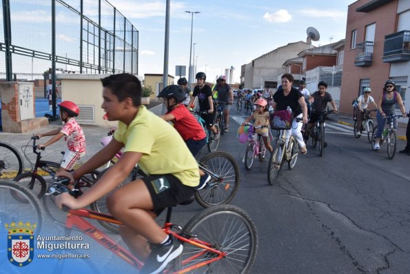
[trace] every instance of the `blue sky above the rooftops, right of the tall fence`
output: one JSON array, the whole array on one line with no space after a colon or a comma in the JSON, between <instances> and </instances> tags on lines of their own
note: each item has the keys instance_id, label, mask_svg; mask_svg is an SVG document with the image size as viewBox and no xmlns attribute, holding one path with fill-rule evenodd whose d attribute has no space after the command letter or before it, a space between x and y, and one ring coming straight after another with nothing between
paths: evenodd
<instances>
[{"instance_id":1,"label":"blue sky above the rooftops, right of the tall fence","mask_svg":"<svg viewBox=\"0 0 410 274\"><path fill-rule=\"evenodd\" d=\"M139 30L139 75L163 73L165 0L109 0ZM239 81L240 66L287 43L306 41L306 29L313 26L325 45L345 38L347 6L352 0L276 1L171 1L169 74L175 66L189 64L191 15L192 42L197 71L208 79L234 66Z\"/></svg>"}]
</instances>

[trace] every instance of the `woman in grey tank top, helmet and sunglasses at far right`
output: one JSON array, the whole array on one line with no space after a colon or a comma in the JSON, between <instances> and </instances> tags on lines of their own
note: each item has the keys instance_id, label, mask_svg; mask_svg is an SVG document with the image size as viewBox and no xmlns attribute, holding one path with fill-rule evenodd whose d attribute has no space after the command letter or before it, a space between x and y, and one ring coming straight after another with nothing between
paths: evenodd
<instances>
[{"instance_id":1,"label":"woman in grey tank top, helmet and sunglasses at far right","mask_svg":"<svg viewBox=\"0 0 410 274\"><path fill-rule=\"evenodd\" d=\"M376 112L376 119L377 119L377 131L376 131L376 140L374 141L374 150L380 150L379 140L382 137L382 132L385 129L385 122L386 116L394 115L396 110L394 106L398 104L402 115L407 117L406 109L404 108L402 97L400 93L396 90L396 83L388 79L385 82L385 88L383 88L383 92L379 95L377 99L377 106L378 111ZM388 122L390 122L391 118L388 118ZM396 117L393 117L393 124L394 128L397 128Z\"/></svg>"}]
</instances>

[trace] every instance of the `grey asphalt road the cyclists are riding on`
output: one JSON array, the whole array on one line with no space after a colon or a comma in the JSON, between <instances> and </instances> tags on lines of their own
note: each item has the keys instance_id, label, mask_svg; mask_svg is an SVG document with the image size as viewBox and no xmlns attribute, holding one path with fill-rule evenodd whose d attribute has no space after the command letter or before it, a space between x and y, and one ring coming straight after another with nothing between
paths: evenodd
<instances>
[{"instance_id":1,"label":"grey asphalt road the cyclists are riding on","mask_svg":"<svg viewBox=\"0 0 410 274\"><path fill-rule=\"evenodd\" d=\"M232 110L231 130L221 137L220 148L240 166L240 189L232 204L245 209L258 228L259 250L252 273L406 273L410 269L407 155L389 160L385 148L374 152L366 138L354 138L349 126L334 119L327 122L325 155L319 157L308 144L307 155L298 157L294 170L285 166L276 184L269 186L267 160L255 162L249 171L243 166L246 145L236 139L236 128L245 117ZM402 147L404 141L399 141L398 149ZM196 202L179 206L174 221L183 226L201 209ZM51 235L64 235L57 226L50 227ZM118 235L112 237L121 242ZM103 273L134 273L91 239L83 242L91 244L87 253ZM34 263L42 265L44 260Z\"/></svg>"}]
</instances>

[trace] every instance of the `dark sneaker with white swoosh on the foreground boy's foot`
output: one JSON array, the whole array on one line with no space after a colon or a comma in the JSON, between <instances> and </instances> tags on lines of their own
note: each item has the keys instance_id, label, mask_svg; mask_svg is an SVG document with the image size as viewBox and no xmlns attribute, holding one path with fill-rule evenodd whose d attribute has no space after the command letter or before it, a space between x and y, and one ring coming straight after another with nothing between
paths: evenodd
<instances>
[{"instance_id":1,"label":"dark sneaker with white swoosh on the foreground boy's foot","mask_svg":"<svg viewBox=\"0 0 410 274\"><path fill-rule=\"evenodd\" d=\"M162 273L167 264L181 255L183 245L172 235L169 235L169 237L169 243L150 244L151 253L147 260L145 260L144 266L139 272L140 274Z\"/></svg>"}]
</instances>

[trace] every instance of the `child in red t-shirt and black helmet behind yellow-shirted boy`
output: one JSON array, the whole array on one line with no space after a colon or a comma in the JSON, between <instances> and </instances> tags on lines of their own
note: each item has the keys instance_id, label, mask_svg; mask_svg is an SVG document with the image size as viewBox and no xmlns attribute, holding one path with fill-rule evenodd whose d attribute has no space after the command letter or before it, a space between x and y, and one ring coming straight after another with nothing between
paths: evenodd
<instances>
[{"instance_id":1,"label":"child in red t-shirt and black helmet behind yellow-shirted boy","mask_svg":"<svg viewBox=\"0 0 410 274\"><path fill-rule=\"evenodd\" d=\"M172 121L174 128L181 135L185 144L187 144L189 151L196 157L203 146L207 144L207 135L194 115L181 104L185 99L185 92L180 86L171 85L163 88L158 97L163 98L163 102L167 108L167 112L161 116L161 118L165 121ZM199 173L201 175L201 182L198 189L201 189L209 182L211 176L205 176L205 173L201 169Z\"/></svg>"}]
</instances>

